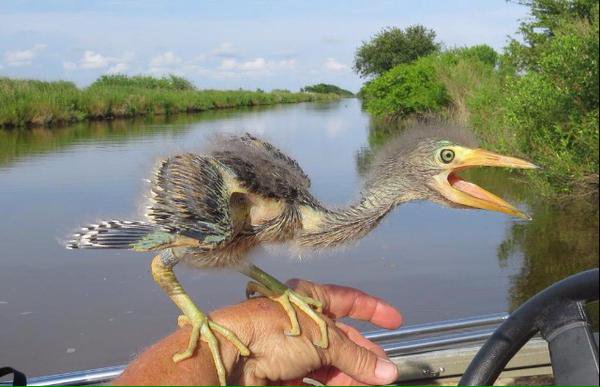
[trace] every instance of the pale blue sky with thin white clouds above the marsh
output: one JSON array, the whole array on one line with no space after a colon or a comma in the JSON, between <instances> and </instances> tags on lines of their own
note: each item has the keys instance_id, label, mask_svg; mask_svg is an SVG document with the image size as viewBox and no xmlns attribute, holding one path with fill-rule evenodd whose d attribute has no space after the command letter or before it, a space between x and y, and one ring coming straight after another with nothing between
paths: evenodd
<instances>
[{"instance_id":1,"label":"pale blue sky with thin white clouds above the marsh","mask_svg":"<svg viewBox=\"0 0 600 387\"><path fill-rule=\"evenodd\" d=\"M358 90L361 41L385 26L423 24L447 47L502 49L527 8L462 1L0 2L0 76L66 79L175 73L202 88Z\"/></svg>"}]
</instances>

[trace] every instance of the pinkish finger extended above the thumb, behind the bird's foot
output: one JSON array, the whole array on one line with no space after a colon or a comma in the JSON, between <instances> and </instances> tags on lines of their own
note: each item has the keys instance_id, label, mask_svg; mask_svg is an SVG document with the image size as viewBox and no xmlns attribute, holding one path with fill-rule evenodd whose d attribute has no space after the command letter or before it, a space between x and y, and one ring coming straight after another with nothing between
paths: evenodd
<instances>
[{"instance_id":1,"label":"pinkish finger extended above the thumb, behind the bird's foot","mask_svg":"<svg viewBox=\"0 0 600 387\"><path fill-rule=\"evenodd\" d=\"M358 289L339 285L317 285L299 279L290 280L288 284L293 289L323 302L323 310L333 318L351 317L387 329L395 329L402 324L402 315L396 308Z\"/></svg>"}]
</instances>

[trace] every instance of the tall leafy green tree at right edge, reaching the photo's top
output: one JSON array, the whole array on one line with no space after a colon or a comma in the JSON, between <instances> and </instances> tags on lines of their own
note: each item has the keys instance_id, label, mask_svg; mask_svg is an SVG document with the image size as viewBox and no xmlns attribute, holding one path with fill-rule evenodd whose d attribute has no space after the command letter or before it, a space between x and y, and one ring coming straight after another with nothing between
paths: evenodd
<instances>
[{"instance_id":1,"label":"tall leafy green tree at right edge, reaching the photo's top","mask_svg":"<svg viewBox=\"0 0 600 387\"><path fill-rule=\"evenodd\" d=\"M507 48L518 71L507 84L506 125L552 181L582 178L597 192L598 0L519 3L531 17L520 25L520 41Z\"/></svg>"}]
</instances>

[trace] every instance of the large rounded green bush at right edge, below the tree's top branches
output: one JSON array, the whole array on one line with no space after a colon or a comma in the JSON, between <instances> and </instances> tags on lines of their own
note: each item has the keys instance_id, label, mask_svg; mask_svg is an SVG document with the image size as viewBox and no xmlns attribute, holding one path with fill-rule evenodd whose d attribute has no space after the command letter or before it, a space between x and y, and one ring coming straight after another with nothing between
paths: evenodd
<instances>
[{"instance_id":1,"label":"large rounded green bush at right edge, below the tree's top branches","mask_svg":"<svg viewBox=\"0 0 600 387\"><path fill-rule=\"evenodd\" d=\"M598 22L556 33L538 71L508 84L505 109L519 149L564 183L598 174Z\"/></svg>"}]
</instances>

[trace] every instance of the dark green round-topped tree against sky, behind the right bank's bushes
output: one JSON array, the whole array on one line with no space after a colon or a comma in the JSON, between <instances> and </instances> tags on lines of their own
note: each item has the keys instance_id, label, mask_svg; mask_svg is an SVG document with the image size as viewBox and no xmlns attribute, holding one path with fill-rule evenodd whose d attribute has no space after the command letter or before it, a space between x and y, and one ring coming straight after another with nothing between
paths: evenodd
<instances>
[{"instance_id":1,"label":"dark green round-topped tree against sky, behind the right bank's bushes","mask_svg":"<svg viewBox=\"0 0 600 387\"><path fill-rule=\"evenodd\" d=\"M421 25L405 30L387 27L356 50L354 70L361 77L378 76L401 63L412 62L440 49L435 31Z\"/></svg>"}]
</instances>

